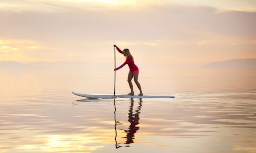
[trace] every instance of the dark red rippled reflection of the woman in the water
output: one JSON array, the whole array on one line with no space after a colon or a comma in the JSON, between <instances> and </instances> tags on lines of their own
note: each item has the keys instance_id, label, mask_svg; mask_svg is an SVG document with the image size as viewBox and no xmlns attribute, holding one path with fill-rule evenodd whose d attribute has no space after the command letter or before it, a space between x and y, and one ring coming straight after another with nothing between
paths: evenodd
<instances>
[{"instance_id":1,"label":"dark red rippled reflection of the woman in the water","mask_svg":"<svg viewBox=\"0 0 256 153\"><path fill-rule=\"evenodd\" d=\"M126 137L124 138L127 138L125 144L133 143L134 134L139 129L137 125L139 124L139 114L142 106L142 100L140 99L137 110L135 110L135 114L133 114L133 106L134 106L134 100L131 99L131 105L128 113L128 121L130 122L130 126L128 130L124 130L126 132Z\"/></svg>"}]
</instances>

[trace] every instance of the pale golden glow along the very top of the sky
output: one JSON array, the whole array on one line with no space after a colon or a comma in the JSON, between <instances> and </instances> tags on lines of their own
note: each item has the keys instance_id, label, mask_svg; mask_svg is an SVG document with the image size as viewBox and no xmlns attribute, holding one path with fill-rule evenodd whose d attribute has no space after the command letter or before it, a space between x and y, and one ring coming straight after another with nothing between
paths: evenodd
<instances>
[{"instance_id":1,"label":"pale golden glow along the very top of the sky","mask_svg":"<svg viewBox=\"0 0 256 153\"><path fill-rule=\"evenodd\" d=\"M45 5L46 4L46 5ZM110 5L110 6L132 6L143 7L146 5L193 5L205 6L218 9L240 10L240 11L256 11L256 2L253 0L2 0L0 8L3 10L11 10L17 8L19 10L38 10L48 11L51 7L48 5L71 5L80 7L88 6L88 4ZM53 7L53 6L52 6Z\"/></svg>"}]
</instances>

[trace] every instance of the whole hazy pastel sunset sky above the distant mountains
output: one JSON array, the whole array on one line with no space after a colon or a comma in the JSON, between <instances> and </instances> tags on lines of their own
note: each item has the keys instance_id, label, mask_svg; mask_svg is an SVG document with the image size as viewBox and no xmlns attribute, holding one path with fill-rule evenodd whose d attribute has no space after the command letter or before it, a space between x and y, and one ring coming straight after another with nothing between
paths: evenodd
<instances>
[{"instance_id":1,"label":"whole hazy pastel sunset sky above the distant mountains","mask_svg":"<svg viewBox=\"0 0 256 153\"><path fill-rule=\"evenodd\" d=\"M256 58L256 1L0 0L0 61L110 64L114 44L139 65Z\"/></svg>"}]
</instances>

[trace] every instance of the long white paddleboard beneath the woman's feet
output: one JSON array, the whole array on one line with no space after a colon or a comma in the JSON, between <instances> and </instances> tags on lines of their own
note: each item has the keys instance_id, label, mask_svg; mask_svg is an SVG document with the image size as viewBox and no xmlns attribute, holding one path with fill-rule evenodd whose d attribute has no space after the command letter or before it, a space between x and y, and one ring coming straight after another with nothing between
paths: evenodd
<instances>
[{"instance_id":1,"label":"long white paddleboard beneath the woman's feet","mask_svg":"<svg viewBox=\"0 0 256 153\"><path fill-rule=\"evenodd\" d=\"M87 98L174 98L174 96L171 95L128 95L128 94L122 94L122 95L110 95L110 94L82 94L82 93L74 93L74 95L78 95L81 97L87 97Z\"/></svg>"}]
</instances>

